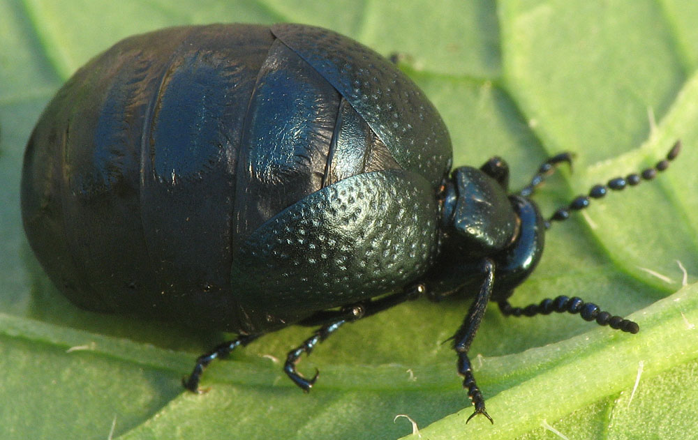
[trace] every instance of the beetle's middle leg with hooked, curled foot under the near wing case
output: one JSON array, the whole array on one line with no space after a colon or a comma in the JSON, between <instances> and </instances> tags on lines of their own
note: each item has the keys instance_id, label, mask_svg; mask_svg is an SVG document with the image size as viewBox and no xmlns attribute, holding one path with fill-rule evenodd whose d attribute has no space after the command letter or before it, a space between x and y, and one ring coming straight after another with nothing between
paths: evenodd
<instances>
[{"instance_id":1,"label":"beetle's middle leg with hooked, curled foot under the near wing case","mask_svg":"<svg viewBox=\"0 0 698 440\"><path fill-rule=\"evenodd\" d=\"M302 388L306 393L309 392L310 389L313 388L315 380L318 379L319 372L316 369L312 379L306 379L302 374L297 372L296 364L302 354L311 354L315 345L327 339L329 335L332 335L332 333L343 324L369 317L383 310L392 308L395 305L404 303L405 301L419 298L419 296L424 294L425 290L422 284L410 285L406 287L406 289L403 289L403 291L384 296L383 298L362 301L360 303L348 305L341 308L341 310L322 310L311 315L311 317L304 319L299 322L299 324L303 326L322 325L322 327L318 328L318 330L315 331L311 337L306 339L303 344L299 345L299 347L288 352L286 362L283 365L283 371L297 386Z\"/></svg>"}]
</instances>

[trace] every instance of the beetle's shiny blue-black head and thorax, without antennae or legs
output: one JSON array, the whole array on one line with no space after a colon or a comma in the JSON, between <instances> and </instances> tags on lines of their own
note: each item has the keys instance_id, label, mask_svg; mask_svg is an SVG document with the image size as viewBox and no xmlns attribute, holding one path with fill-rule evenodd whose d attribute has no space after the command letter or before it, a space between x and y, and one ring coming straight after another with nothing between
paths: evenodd
<instances>
[{"instance_id":1,"label":"beetle's shiny blue-black head and thorax, without antennae or legs","mask_svg":"<svg viewBox=\"0 0 698 440\"><path fill-rule=\"evenodd\" d=\"M497 170L506 170L505 162L494 160ZM507 194L506 171L490 171L459 167L443 185L441 251L429 277L430 290L438 296L479 288L478 268L487 257L496 267L493 298L506 297L542 256L545 221L537 206L527 197Z\"/></svg>"}]
</instances>

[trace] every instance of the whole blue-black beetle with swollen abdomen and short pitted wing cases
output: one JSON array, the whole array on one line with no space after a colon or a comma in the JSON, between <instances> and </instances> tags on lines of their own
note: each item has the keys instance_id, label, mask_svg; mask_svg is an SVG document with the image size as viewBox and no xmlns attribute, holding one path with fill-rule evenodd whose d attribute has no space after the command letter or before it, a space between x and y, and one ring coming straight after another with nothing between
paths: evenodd
<instances>
[{"instance_id":1,"label":"whole blue-black beetle with swollen abdomen and short pitted wing cases","mask_svg":"<svg viewBox=\"0 0 698 440\"><path fill-rule=\"evenodd\" d=\"M284 365L308 391L317 372L297 361L343 324L475 294L453 348L470 418L491 421L468 357L487 303L637 333L580 298L508 298L551 222L653 179L679 149L546 220L530 196L570 153L519 192L498 157L451 171L436 108L369 48L301 24L175 27L122 40L58 91L27 144L22 219L80 307L237 333L198 358L193 391L211 361L292 324L319 327Z\"/></svg>"}]
</instances>

